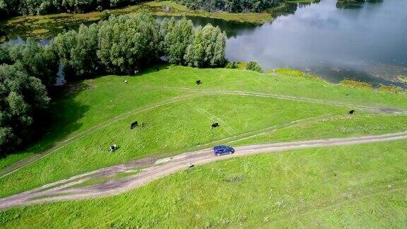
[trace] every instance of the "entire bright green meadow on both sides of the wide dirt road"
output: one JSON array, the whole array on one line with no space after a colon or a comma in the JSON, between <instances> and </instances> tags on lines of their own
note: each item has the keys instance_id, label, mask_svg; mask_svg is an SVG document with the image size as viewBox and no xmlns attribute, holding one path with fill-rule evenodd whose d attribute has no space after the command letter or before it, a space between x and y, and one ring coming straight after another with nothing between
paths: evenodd
<instances>
[{"instance_id":1,"label":"entire bright green meadow on both sides of the wide dirt road","mask_svg":"<svg viewBox=\"0 0 407 229\"><path fill-rule=\"evenodd\" d=\"M129 81L128 84L124 83L125 79ZM195 85L194 82L197 79L203 81L201 86ZM349 88L327 83L314 77L305 77L302 74L299 75L297 71L286 69L274 71L271 74L260 74L232 69L192 69L170 66L169 69L162 68L160 71L149 69L138 76L103 76L83 81L80 85L81 87L73 87L76 89L71 88L54 100L50 128L45 137L34 143L32 147L10 155L5 160L0 160L0 166L6 167L44 149L52 152L45 158L1 178L0 196L16 194L42 184L129 160L147 156L163 158L186 151L209 148L218 143L229 143L235 146L384 134L407 129L407 115L373 113L369 110L355 108L372 106L407 110L405 92L389 93L371 88ZM279 98L277 95L285 97ZM349 115L348 111L353 109L356 110L356 114ZM129 126L134 120L145 122L146 127L131 130ZM220 128L210 129L213 122L219 122ZM120 148L115 153L108 153L107 147L112 143L117 143ZM36 212L44 211L46 217L35 221L38 226L41 223L47 223L50 218L57 218L54 226L69 223L93 225L94 221L100 218L103 220L94 225L160 226L167 218L170 225L199 225L200 227L223 224L234 226L240 223L243 225L262 225L263 223L269 225L271 222L274 222L274 225L300 226L295 224L297 221L294 219L276 223L276 218L280 215L287 218L286 216L293 211L305 212L307 215L310 209L317 207L323 209L319 208L316 203L327 206L331 204L328 201L344 203L343 206L338 206L340 209L338 211L345 215L350 211L361 211L358 208L366 204L365 199L355 199L348 203L343 196L343 198L341 197L341 194L346 192L344 191L346 188L353 187L346 183L352 180L351 176L365 176L358 183L358 188L362 190L361 196L380 192L382 188L387 190L387 186L384 187L384 184L380 184L382 185L380 186L379 183L374 183L376 186L374 189L370 189L369 178L371 182L399 182L397 180L400 178L399 176L406 175L406 168L401 165L403 157L407 156L405 155L405 143L406 141L398 141L362 146L319 148L238 158L180 172L121 196L93 201L45 204L26 207L23 210L6 211L0 215L0 224L4 223L12 227L13 223L18 225L18 223L35 221L33 218L37 214ZM353 151L358 154L353 154ZM385 155L393 156L387 158ZM393 160L396 160L397 157L399 157L399 161L394 163ZM302 160L305 160L304 165L301 165ZM346 162L349 161L353 164L346 165ZM358 170L360 169L358 166L352 167L356 162L372 165L367 166L366 164L364 170ZM322 165L321 170L316 169L319 163ZM258 166L250 166L257 164L268 166L260 166L260 170ZM298 172L293 172L293 177L290 177L288 175L290 171L285 168ZM377 169L384 173L375 173ZM219 175L216 172L218 170ZM303 170L311 172L304 173ZM393 170L401 171L401 174L396 174L399 175L396 176L393 174ZM242 175L239 171L242 171ZM323 189L324 182L315 179L317 179L316 177L326 177L326 172L329 171L346 174L344 177L328 179L332 185L336 184L335 180L341 183L338 189L331 187L331 184L327 184L326 190L312 189L313 182L319 182L315 188ZM339 174L338 172L336 174ZM360 172L365 173L360 175ZM386 175L386 172L389 172L391 176L380 177L380 175ZM372 177L368 177L367 174ZM223 187L223 184L219 183L221 180L229 179L222 178L223 175L230 177L232 182L225 184L232 186L218 189ZM244 177L243 180L246 182L243 187L240 187L240 180L242 180L240 177ZM256 180L256 177L259 179ZM264 180L264 184L260 184L261 177L269 177L268 179L271 180ZM201 182L198 184L199 179ZM90 180L88 183L93 184L106 180L108 179L100 178ZM174 182L175 180L178 182ZM235 180L237 180L236 184L234 184ZM293 187L284 186L287 185L284 182L288 182L288 184L293 182ZM187 187L183 187L184 184ZM300 184L304 186L302 187ZM191 186L188 187L188 185ZM394 185L403 187L401 182ZM256 199L257 192L253 189L258 186L264 188L264 190L257 190L260 197L263 198L259 197L259 200ZM169 188L167 189L167 187ZM196 189L196 187L200 188ZM170 192L169 190L172 189L179 191ZM290 194L285 196L285 191ZM350 191L352 191L350 194L354 194L355 189ZM143 194L143 192L145 193ZM185 192L190 197L179 197L177 196L179 192ZM216 196L211 199L212 197L208 194L213 192L216 193ZM267 196L274 192L277 196ZM154 195L151 196L151 193ZM307 202L302 206L297 206L293 196L298 197L302 193L305 195L303 199ZM236 203L233 204L232 196L235 194L239 196L237 196ZM400 201L400 196L403 196L405 191L386 193L389 198L392 198L393 194L396 195L394 198ZM143 198L138 197L143 195ZM220 202L223 200L223 195L225 204ZM196 198L192 196L198 196L199 200L196 202ZM291 197L289 198L289 196ZM177 201L178 197L187 199ZM266 197L282 198L282 202L276 202L280 200L273 199L270 203L280 204L273 206L269 203L267 208L260 204L259 208L263 206L266 210L261 213L257 212L259 210L256 206L257 201L263 203ZM135 200L126 204L123 203L126 198ZM166 202L166 198L168 201L172 199L174 202L172 204ZM377 199L377 204L385 201L380 198ZM156 203L157 201L158 203ZM353 207L352 204L357 201L361 201L360 205ZM178 204L182 204L182 206ZM100 208L101 205L102 208ZM141 211L140 205L147 210L141 208L143 209ZM229 205L230 207L228 207ZM288 208L281 209L281 206L288 206ZM120 213L122 207L131 209L131 211ZM295 209L296 207L300 209ZM343 209L341 209L342 207ZM88 211L83 213L81 208L88 208ZM112 216L104 216L110 211L103 208L114 209ZM176 209L184 209L187 217L177 216L182 211L175 212ZM242 209L242 212L233 211L233 209ZM281 212L274 212L277 210L281 210ZM390 210L391 206L389 206L389 212L391 212ZM196 215L196 211L199 211L199 215ZM302 222L304 218L301 218L301 223L305 226L315 226L317 225L315 223L321 223L321 226L345 225L343 223L346 223L346 218L336 216L339 213L328 213L325 218L312 214L312 221ZM399 214L395 219L401 218L404 219L404 222L406 221L406 216L402 213L392 213ZM61 215L61 218L57 217L58 214ZM230 217L226 217L229 214ZM367 215L363 215L365 214L363 212L360 214L367 217ZM133 218L129 218L130 216ZM302 215L299 214L298 217L300 216ZM338 221L326 221L327 218L334 216ZM379 218L379 216L374 217ZM340 221L340 219L344 221ZM358 226L362 223L362 221L354 219L354 224L350 225ZM400 225L403 221L385 223L387 223L385 225ZM52 227L52 223L47 225Z\"/></svg>"}]
</instances>

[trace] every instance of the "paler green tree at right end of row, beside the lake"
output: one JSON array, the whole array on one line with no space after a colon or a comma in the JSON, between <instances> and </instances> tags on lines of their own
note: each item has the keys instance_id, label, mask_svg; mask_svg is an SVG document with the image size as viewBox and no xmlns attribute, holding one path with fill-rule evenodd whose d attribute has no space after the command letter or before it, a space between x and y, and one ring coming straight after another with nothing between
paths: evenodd
<instances>
[{"instance_id":1,"label":"paler green tree at right end of row, beside the lake","mask_svg":"<svg viewBox=\"0 0 407 229\"><path fill-rule=\"evenodd\" d=\"M199 68L224 66L226 34L218 26L197 28L194 39L187 48L185 60L189 66Z\"/></svg>"}]
</instances>

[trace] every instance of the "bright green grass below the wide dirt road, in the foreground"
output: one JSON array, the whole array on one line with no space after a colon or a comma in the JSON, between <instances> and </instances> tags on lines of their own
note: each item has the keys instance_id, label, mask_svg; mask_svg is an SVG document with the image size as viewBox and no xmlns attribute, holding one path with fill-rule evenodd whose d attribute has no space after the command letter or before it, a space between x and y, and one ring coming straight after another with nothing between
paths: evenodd
<instances>
[{"instance_id":1,"label":"bright green grass below the wide dirt road, in the foreground","mask_svg":"<svg viewBox=\"0 0 407 229\"><path fill-rule=\"evenodd\" d=\"M0 213L4 228L384 227L407 222L407 141L234 158L105 199Z\"/></svg>"}]
</instances>

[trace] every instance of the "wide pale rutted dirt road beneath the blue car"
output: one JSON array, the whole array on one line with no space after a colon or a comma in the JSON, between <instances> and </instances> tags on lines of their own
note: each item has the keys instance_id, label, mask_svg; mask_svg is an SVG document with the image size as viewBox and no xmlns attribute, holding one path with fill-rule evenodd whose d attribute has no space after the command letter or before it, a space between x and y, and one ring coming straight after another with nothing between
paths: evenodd
<instances>
[{"instance_id":1,"label":"wide pale rutted dirt road beneath the blue car","mask_svg":"<svg viewBox=\"0 0 407 229\"><path fill-rule=\"evenodd\" d=\"M311 141L293 141L284 143L271 143L262 145L239 146L235 148L232 155L215 156L211 149L183 153L172 158L144 158L109 168L102 168L83 175L76 175L66 180L46 184L37 189L23 192L13 196L0 199L0 209L8 209L16 206L30 204L41 204L52 201L66 201L75 199L90 199L103 196L112 196L128 192L131 189L141 187L153 180L158 180L179 170L188 168L189 162L194 165L211 163L216 160L225 160L245 155L258 153L273 153L277 151L290 151L302 148L318 148L330 146L348 146L362 143L375 143L383 141L396 141L407 139L407 131L395 134L383 134L376 136L358 136L341 139L317 139ZM120 172L134 170L134 168L146 167L137 175L131 175L118 180L112 180L102 184L90 185L88 187L73 187L86 180L104 175L114 175Z\"/></svg>"}]
</instances>

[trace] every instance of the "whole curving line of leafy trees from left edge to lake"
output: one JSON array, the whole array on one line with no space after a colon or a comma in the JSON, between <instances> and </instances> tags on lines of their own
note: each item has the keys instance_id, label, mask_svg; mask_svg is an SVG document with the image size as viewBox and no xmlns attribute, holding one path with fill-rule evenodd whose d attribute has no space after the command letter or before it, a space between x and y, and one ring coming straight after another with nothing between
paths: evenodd
<instances>
[{"instance_id":1,"label":"whole curving line of leafy trees from left edge to lake","mask_svg":"<svg viewBox=\"0 0 407 229\"><path fill-rule=\"evenodd\" d=\"M67 81L100 74L134 74L166 56L170 63L225 66L226 35L191 20L158 23L147 13L112 16L61 33L42 47L33 40L0 47L0 155L30 141L49 106L59 64Z\"/></svg>"}]
</instances>

